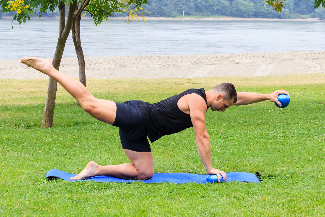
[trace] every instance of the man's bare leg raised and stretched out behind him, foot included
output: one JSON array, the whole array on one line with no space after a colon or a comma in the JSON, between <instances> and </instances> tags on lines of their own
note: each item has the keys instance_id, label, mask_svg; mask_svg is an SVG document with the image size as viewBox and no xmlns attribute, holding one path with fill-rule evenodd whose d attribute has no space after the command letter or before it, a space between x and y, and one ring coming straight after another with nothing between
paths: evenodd
<instances>
[{"instance_id":1,"label":"man's bare leg raised and stretched out behind him, foot included","mask_svg":"<svg viewBox=\"0 0 325 217\"><path fill-rule=\"evenodd\" d=\"M50 60L24 57L20 59L20 62L57 80L78 101L81 107L94 118L105 123L114 123L116 117L115 102L97 99L88 92L81 82L56 70Z\"/></svg>"}]
</instances>

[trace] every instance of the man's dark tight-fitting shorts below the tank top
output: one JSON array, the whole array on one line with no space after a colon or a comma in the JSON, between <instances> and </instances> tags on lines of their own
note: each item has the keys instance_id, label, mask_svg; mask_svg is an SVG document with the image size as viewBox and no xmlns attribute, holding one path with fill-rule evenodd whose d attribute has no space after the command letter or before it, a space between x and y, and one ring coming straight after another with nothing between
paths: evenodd
<instances>
[{"instance_id":1,"label":"man's dark tight-fitting shorts below the tank top","mask_svg":"<svg viewBox=\"0 0 325 217\"><path fill-rule=\"evenodd\" d=\"M112 125L119 127L123 149L151 152L138 100L116 103L116 118Z\"/></svg>"}]
</instances>

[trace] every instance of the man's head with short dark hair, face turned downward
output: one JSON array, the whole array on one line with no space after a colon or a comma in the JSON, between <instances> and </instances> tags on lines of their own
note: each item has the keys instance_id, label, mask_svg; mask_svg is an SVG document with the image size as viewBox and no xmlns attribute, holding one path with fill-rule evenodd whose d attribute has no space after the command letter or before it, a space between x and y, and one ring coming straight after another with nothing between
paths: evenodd
<instances>
[{"instance_id":1,"label":"man's head with short dark hair, face turned downward","mask_svg":"<svg viewBox=\"0 0 325 217\"><path fill-rule=\"evenodd\" d=\"M214 93L214 99L211 104L213 111L224 112L226 108L237 102L237 92L231 83L218 84L211 90Z\"/></svg>"}]
</instances>

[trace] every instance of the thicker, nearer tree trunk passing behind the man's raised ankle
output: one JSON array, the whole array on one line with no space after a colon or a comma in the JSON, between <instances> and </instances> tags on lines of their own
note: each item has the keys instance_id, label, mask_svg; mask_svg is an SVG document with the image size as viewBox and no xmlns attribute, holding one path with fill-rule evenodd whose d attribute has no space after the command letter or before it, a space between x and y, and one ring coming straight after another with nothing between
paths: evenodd
<instances>
[{"instance_id":1,"label":"thicker, nearer tree trunk passing behind the man's raised ankle","mask_svg":"<svg viewBox=\"0 0 325 217\"><path fill-rule=\"evenodd\" d=\"M71 31L73 15L76 7L77 1L74 0L69 6L68 18L65 22L64 2L59 1L59 38L52 60L52 64L57 70L59 70L65 43ZM53 127L56 94L57 81L50 77L48 80L48 89L43 113L42 128Z\"/></svg>"}]
</instances>

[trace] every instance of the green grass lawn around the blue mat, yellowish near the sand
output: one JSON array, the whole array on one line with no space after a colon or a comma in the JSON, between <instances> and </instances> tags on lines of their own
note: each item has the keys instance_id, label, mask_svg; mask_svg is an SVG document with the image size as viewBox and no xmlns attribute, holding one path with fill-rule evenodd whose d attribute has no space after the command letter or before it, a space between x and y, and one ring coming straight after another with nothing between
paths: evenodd
<instances>
[{"instance_id":1,"label":"green grass lawn around the blue mat, yellowish near the sand","mask_svg":"<svg viewBox=\"0 0 325 217\"><path fill-rule=\"evenodd\" d=\"M128 162L118 130L90 117L62 87L54 127L41 129L47 81L0 80L0 216L324 216L324 75L88 80L87 87L118 102L156 102L225 81L238 91L290 93L283 109L265 101L207 112L213 166L258 171L259 184L45 180L52 168L78 173L90 160ZM155 172L205 173L193 129L164 136L151 149Z\"/></svg>"}]
</instances>

